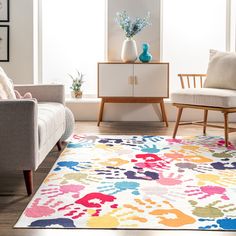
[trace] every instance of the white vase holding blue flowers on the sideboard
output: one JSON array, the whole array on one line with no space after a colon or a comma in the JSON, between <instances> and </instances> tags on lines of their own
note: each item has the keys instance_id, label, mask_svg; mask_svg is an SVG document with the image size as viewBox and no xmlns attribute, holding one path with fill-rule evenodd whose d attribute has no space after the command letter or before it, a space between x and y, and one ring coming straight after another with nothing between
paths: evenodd
<instances>
[{"instance_id":1,"label":"white vase holding blue flowers on the sideboard","mask_svg":"<svg viewBox=\"0 0 236 236\"><path fill-rule=\"evenodd\" d=\"M121 60L123 62L135 62L138 57L138 50L134 39L124 40L121 51Z\"/></svg>"}]
</instances>

